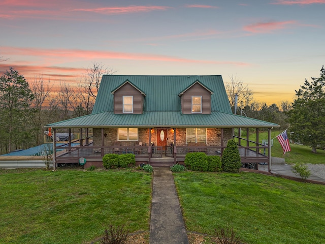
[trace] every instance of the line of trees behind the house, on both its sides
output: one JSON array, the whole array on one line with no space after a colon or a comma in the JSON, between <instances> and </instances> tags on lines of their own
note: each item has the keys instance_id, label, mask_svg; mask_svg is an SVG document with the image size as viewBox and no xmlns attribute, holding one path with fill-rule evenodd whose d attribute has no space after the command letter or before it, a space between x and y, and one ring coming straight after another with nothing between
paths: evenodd
<instances>
[{"instance_id":1,"label":"line of trees behind the house, on both its sides","mask_svg":"<svg viewBox=\"0 0 325 244\"><path fill-rule=\"evenodd\" d=\"M35 77L30 84L22 74L10 67L0 77L0 154L26 149L43 143L44 126L56 121L90 114L103 74L115 73L101 63L93 63L75 85L61 81L58 90L50 80ZM305 80L296 90L293 103L282 101L267 105L253 100L253 92L242 80L232 76L226 84L234 109L238 94L237 114L261 119L289 129L292 139L310 145L312 151L325 144L325 69L319 78Z\"/></svg>"}]
</instances>

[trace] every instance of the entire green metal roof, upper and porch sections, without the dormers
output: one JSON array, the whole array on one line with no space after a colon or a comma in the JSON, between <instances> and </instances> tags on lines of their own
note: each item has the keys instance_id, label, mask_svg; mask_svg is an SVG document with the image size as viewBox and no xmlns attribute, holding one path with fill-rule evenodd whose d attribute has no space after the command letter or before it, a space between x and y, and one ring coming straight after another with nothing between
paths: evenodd
<instances>
[{"instance_id":1,"label":"entire green metal roof, upper and porch sections, without the dormers","mask_svg":"<svg viewBox=\"0 0 325 244\"><path fill-rule=\"evenodd\" d=\"M143 92L143 114L114 114L114 90L125 82ZM179 94L199 82L211 94L211 114L182 114ZM209 87L209 88L208 88ZM108 127L279 127L277 124L232 114L220 75L211 76L143 76L104 75L92 114L72 118L46 127L53 128L108 128Z\"/></svg>"}]
</instances>

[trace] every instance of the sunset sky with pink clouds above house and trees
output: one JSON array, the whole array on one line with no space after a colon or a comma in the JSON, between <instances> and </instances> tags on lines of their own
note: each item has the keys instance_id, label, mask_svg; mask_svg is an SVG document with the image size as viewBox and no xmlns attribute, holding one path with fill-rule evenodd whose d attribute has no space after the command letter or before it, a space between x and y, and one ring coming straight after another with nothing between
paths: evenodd
<instances>
[{"instance_id":1,"label":"sunset sky with pink clouds above house and trees","mask_svg":"<svg viewBox=\"0 0 325 244\"><path fill-rule=\"evenodd\" d=\"M0 0L0 74L234 75L258 102L291 102L325 65L324 13L325 0Z\"/></svg>"}]
</instances>

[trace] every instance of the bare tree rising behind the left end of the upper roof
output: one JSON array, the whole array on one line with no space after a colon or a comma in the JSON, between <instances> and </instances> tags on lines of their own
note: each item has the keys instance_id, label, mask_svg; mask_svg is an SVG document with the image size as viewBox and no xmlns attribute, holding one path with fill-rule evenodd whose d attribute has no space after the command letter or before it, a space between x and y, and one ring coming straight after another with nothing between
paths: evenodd
<instances>
[{"instance_id":1,"label":"bare tree rising behind the left end of the upper roof","mask_svg":"<svg viewBox=\"0 0 325 244\"><path fill-rule=\"evenodd\" d=\"M87 68L84 75L84 84L87 87L87 93L96 98L103 75L113 75L116 71L111 68L105 68L102 63L94 62L91 68Z\"/></svg>"}]
</instances>

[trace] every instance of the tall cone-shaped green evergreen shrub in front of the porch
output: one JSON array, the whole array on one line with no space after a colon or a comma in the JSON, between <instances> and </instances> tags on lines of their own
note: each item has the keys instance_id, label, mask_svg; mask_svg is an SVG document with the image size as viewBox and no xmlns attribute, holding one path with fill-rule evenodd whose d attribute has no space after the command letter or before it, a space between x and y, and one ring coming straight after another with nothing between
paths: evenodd
<instances>
[{"instance_id":1,"label":"tall cone-shaped green evergreen shrub in front of the porch","mask_svg":"<svg viewBox=\"0 0 325 244\"><path fill-rule=\"evenodd\" d=\"M228 141L223 150L221 167L223 171L237 173L242 166L238 145L234 139Z\"/></svg>"}]
</instances>

